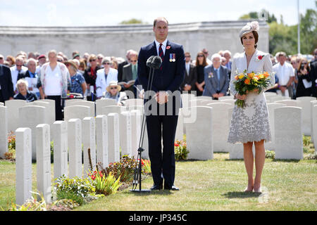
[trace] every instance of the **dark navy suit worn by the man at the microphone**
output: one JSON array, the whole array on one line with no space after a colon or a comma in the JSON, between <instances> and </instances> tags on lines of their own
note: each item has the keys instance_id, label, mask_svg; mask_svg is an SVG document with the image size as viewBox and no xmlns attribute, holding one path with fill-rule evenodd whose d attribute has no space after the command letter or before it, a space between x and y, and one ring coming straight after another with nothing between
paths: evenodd
<instances>
[{"instance_id":1,"label":"dark navy suit worn by the man at the microphone","mask_svg":"<svg viewBox=\"0 0 317 225\"><path fill-rule=\"evenodd\" d=\"M175 55L170 55L175 54ZM147 59L150 56L157 56L155 41L144 46L139 51L137 61L138 81L142 84L144 91L147 91L149 81L149 70ZM175 56L175 61L170 62L171 56ZM154 70L154 79L151 90L158 91L178 91L180 95L180 84L185 75L185 54L180 44L167 41L166 52L163 57L162 68ZM175 99L175 98L174 98ZM170 99L169 101L174 101ZM180 99L180 98L179 98ZM159 105L166 107L168 104ZM145 107L144 107L145 109ZM175 115L174 113L177 114ZM175 179L175 154L174 141L175 131L178 123L178 106L173 104L173 115L147 115L147 134L149 137L149 158L151 160L151 172L154 185L172 188ZM161 139L163 139L163 154ZM163 174L163 178L161 177Z\"/></svg>"}]
</instances>

